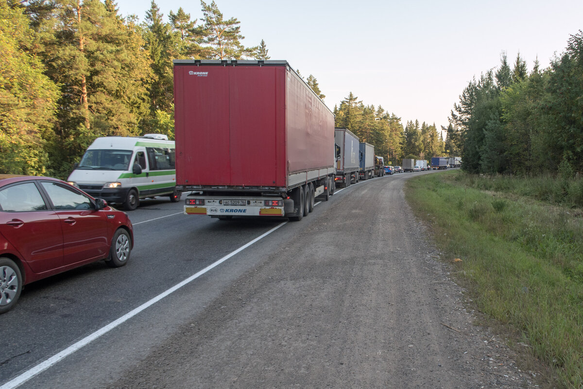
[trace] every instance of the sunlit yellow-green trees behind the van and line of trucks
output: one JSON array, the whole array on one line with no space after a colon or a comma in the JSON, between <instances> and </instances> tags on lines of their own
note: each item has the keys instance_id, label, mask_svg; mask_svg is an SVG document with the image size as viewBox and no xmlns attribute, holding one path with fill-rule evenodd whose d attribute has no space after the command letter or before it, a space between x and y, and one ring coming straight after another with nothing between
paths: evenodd
<instances>
[{"instance_id":1,"label":"sunlit yellow-green trees behind the van and line of trucks","mask_svg":"<svg viewBox=\"0 0 583 389\"><path fill-rule=\"evenodd\" d=\"M113 0L0 1L0 173L66 178L98 136L173 139L172 60L270 58L264 40L243 40L215 1L201 0L199 18L170 11L168 22L153 0L143 22ZM306 82L324 99L313 75ZM435 125L403 128L352 92L334 111L337 126L394 163L442 149Z\"/></svg>"}]
</instances>

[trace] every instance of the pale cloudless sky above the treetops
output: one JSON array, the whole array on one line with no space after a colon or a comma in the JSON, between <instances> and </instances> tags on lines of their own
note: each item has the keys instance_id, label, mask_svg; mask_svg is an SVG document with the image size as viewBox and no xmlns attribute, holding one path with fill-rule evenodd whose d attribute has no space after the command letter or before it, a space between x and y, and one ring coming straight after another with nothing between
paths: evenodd
<instances>
[{"instance_id":1,"label":"pale cloudless sky above the treetops","mask_svg":"<svg viewBox=\"0 0 583 389\"><path fill-rule=\"evenodd\" d=\"M206 1L210 3L212 0ZM408 120L447 127L450 111L473 76L512 65L518 52L529 71L564 52L583 30L583 0L320 1L215 0L236 17L245 46L261 40L271 59L314 75L333 109L350 92ZM198 0L156 0L164 20L182 7L202 17ZM142 22L150 1L118 0L122 16Z\"/></svg>"}]
</instances>

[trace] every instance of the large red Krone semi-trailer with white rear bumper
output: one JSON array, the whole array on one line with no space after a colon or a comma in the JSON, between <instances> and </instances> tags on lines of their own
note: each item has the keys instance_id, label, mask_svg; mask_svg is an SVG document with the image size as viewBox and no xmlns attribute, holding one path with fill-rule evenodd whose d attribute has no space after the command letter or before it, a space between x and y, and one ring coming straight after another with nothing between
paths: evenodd
<instances>
[{"instance_id":1,"label":"large red Krone semi-trailer with white rear bumper","mask_svg":"<svg viewBox=\"0 0 583 389\"><path fill-rule=\"evenodd\" d=\"M175 59L174 122L188 215L301 220L333 194L334 114L286 61Z\"/></svg>"}]
</instances>

